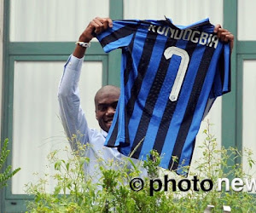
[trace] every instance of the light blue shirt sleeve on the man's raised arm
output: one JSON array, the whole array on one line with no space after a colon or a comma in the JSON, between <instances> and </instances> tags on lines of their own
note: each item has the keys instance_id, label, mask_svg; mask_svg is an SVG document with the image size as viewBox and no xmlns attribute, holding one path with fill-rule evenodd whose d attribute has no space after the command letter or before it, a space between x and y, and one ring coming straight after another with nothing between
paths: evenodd
<instances>
[{"instance_id":1,"label":"light blue shirt sleeve on the man's raised arm","mask_svg":"<svg viewBox=\"0 0 256 213\"><path fill-rule=\"evenodd\" d=\"M72 147L89 142L90 129L80 105L79 78L84 59L69 56L58 89L60 117ZM83 134L83 135L82 135Z\"/></svg>"}]
</instances>

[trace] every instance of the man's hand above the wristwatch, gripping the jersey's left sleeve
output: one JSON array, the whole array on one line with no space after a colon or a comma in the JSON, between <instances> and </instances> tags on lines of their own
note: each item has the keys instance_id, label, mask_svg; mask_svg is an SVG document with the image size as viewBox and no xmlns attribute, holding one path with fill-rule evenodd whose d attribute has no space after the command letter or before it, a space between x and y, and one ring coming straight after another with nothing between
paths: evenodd
<instances>
[{"instance_id":1,"label":"man's hand above the wristwatch, gripping the jersey's left sleeve","mask_svg":"<svg viewBox=\"0 0 256 213\"><path fill-rule=\"evenodd\" d=\"M112 26L113 22L111 19L96 17L94 20L90 21L89 25L81 34L79 42L90 42L90 40L95 37L95 34L99 34Z\"/></svg>"}]
</instances>

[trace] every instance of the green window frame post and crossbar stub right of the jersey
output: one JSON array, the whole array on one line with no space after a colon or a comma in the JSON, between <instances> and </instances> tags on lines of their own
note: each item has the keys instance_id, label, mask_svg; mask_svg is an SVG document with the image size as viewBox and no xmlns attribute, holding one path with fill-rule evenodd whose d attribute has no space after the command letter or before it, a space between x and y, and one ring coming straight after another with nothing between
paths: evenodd
<instances>
[{"instance_id":1,"label":"green window frame post and crossbar stub right of the jersey","mask_svg":"<svg viewBox=\"0 0 256 213\"><path fill-rule=\"evenodd\" d=\"M224 1L224 27L235 36L231 56L231 93L222 104L222 141L224 147L242 151L242 72L243 60L256 60L256 40L237 40L238 0ZM236 158L241 163L241 158Z\"/></svg>"}]
</instances>

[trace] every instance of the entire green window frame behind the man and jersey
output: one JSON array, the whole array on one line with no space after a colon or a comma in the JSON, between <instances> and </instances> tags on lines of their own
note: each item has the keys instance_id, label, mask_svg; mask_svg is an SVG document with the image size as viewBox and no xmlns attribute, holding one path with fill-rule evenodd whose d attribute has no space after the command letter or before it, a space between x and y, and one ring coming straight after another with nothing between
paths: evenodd
<instances>
[{"instance_id":1,"label":"entire green window frame behind the man and jersey","mask_svg":"<svg viewBox=\"0 0 256 213\"><path fill-rule=\"evenodd\" d=\"M113 20L123 18L123 1L109 0L109 16ZM224 0L224 28L227 28L237 37L237 0ZM11 43L9 42L9 10L8 0L4 0L4 35L3 35L3 112L2 135L12 139L13 118L13 89L14 89L14 63L15 60L30 61L66 61L67 56L73 52L74 43ZM235 40L231 57L232 92L224 95L222 101L222 145L224 147L242 147L242 61L256 60L256 41ZM103 84L119 85L120 50L108 55L102 50L99 43L92 43L86 52L84 60L102 61ZM9 149L12 145L9 143ZM239 161L239 159L238 159ZM11 154L8 158L11 164ZM239 163L239 162L237 162ZM0 211L20 212L26 211L28 195L11 194L11 181L9 187L0 193Z\"/></svg>"}]
</instances>

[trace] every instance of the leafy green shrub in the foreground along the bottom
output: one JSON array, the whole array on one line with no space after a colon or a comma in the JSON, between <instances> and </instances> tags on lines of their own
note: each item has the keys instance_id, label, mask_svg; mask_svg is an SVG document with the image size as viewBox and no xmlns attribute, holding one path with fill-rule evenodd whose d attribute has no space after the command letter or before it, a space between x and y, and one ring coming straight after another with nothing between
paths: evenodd
<instances>
[{"instance_id":1,"label":"leafy green shrub in the foreground along the bottom","mask_svg":"<svg viewBox=\"0 0 256 213\"><path fill-rule=\"evenodd\" d=\"M137 179L139 167L127 159L127 163L133 165L116 165L113 161L107 166L102 164L99 171L102 178L93 183L93 177L84 175L83 166L88 164L89 158L84 157L85 146L79 145L78 151L73 152L67 161L57 158L57 152L49 154L51 163L54 164L56 174L54 193L47 193L45 185L47 181L38 180L37 183L27 185L27 193L33 194L34 199L27 204L29 212L203 212L208 204L214 205L212 212L223 212L223 205L229 205L235 212L255 212L256 202L253 196L247 192L236 192L230 188L229 192L218 190L217 186L211 186L210 181L205 181L202 190L202 181L211 180L216 184L218 178L252 178L243 170L242 165L236 163L236 158L241 157L241 152L235 148L217 148L217 142L209 132L209 126L204 131L206 139L201 146L202 158L195 166L195 171L190 171L189 176L177 176L175 171L161 170L157 167L161 157L155 151L151 152L152 158L143 164L148 170L148 177L143 180L143 189L139 190L140 182L132 182ZM252 153L246 151L250 167L254 161ZM101 159L100 159L101 160ZM176 159L177 160L177 159ZM230 163L231 162L231 163ZM111 168L111 169L109 169ZM188 181L193 187L188 187ZM135 178L135 179L134 179ZM173 179L175 184L170 181ZM167 185L163 183L167 181ZM178 185L179 184L179 185ZM178 187L177 187L178 185ZM134 190L131 190L133 187ZM183 190L188 189L188 190ZM60 195L61 193L61 195Z\"/></svg>"}]
</instances>

